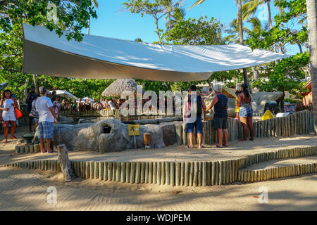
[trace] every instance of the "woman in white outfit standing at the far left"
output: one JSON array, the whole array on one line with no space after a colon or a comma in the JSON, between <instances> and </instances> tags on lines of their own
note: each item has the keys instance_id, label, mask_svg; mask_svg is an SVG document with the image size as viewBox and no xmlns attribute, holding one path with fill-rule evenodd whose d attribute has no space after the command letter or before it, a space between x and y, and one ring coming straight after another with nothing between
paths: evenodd
<instances>
[{"instance_id":1,"label":"woman in white outfit standing at the far left","mask_svg":"<svg viewBox=\"0 0 317 225\"><path fill-rule=\"evenodd\" d=\"M1 96L0 102L0 110L4 110L2 112L2 119L4 122L2 123L4 126L4 143L8 142L8 124L11 123L11 139L16 139L14 136L15 133L15 108L16 103L12 98L12 94L10 90L5 90Z\"/></svg>"}]
</instances>

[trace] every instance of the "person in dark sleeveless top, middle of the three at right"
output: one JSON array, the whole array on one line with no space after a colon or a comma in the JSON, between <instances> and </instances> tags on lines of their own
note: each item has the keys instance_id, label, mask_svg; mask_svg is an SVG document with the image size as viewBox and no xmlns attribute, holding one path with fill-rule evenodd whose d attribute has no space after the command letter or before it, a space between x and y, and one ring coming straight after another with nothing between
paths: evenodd
<instances>
[{"instance_id":1,"label":"person in dark sleeveless top, middle of the three at right","mask_svg":"<svg viewBox=\"0 0 317 225\"><path fill-rule=\"evenodd\" d=\"M222 94L223 86L220 84L215 85L215 94L211 105L206 111L213 108L215 112L213 114L213 127L217 130L218 144L216 147L223 148L228 147L228 98ZM225 143L223 144L223 136L225 137Z\"/></svg>"}]
</instances>

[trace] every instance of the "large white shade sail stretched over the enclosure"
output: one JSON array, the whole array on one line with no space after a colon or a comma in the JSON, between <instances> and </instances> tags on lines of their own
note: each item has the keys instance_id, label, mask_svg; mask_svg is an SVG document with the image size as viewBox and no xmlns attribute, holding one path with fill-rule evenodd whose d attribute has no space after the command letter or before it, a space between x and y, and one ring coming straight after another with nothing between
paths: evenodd
<instances>
[{"instance_id":1,"label":"large white shade sail stretched over the enclosure","mask_svg":"<svg viewBox=\"0 0 317 225\"><path fill-rule=\"evenodd\" d=\"M86 35L81 42L23 24L23 72L93 79L206 80L211 72L288 57L239 44L159 45Z\"/></svg>"}]
</instances>

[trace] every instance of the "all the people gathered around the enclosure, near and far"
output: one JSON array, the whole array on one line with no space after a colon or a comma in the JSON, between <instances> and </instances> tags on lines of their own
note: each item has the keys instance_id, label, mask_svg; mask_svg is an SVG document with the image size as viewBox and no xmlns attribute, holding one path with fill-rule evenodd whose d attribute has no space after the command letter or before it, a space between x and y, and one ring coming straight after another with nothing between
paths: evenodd
<instances>
[{"instance_id":1,"label":"all the people gathered around the enclosure, near and far","mask_svg":"<svg viewBox=\"0 0 317 225\"><path fill-rule=\"evenodd\" d=\"M222 94L222 86L220 84L215 85L215 97L211 102L211 105L206 107L204 103L204 98L201 97L199 92L194 95L194 103L196 107L194 110L197 117L195 117L194 121L190 121L191 117L190 113L188 113L190 105L192 105L192 93L193 91L197 91L197 87L195 85L189 86L189 94L187 94L185 98L185 103L183 107L183 120L187 123L187 133L189 133L189 145L187 148L194 148L193 146L193 133L194 126L197 129L197 136L199 147L204 148L202 146L202 122L201 117L205 111L209 111L211 108L214 110L213 115L213 124L214 129L217 130L218 133L218 144L215 147L223 148L223 146L228 146L228 98L224 94ZM247 141L248 136L248 127L250 129L250 141L254 139L254 128L252 126L252 109L251 109L251 95L249 94L249 90L247 85L242 84L241 90L236 92L237 98L235 107L235 112L237 113L236 119L240 120L243 125L243 139L241 141ZM150 100L143 100L143 104ZM32 122L35 122L35 129L38 127L39 129L39 142L41 146L42 153L45 152L44 149L44 140L46 140L48 149L47 152L50 153L51 149L50 141L53 135L53 124L58 123L58 112L61 110L77 110L77 111L86 111L86 110L115 110L119 109L125 100L122 99L113 99L110 100L100 98L99 101L96 101L94 98L92 102L89 99L79 99L79 101L74 101L70 103L66 99L61 100L56 96L56 91L52 91L49 94L45 86L41 86L39 88L39 95L35 94L35 87L32 86L30 89L30 93L27 94L26 103L27 103L27 113L29 113L30 117L30 131L32 131ZM165 99L165 105L167 104L167 98ZM173 105L175 102L173 101ZM158 101L159 107L159 101ZM136 104L135 104L136 107ZM4 143L8 141L8 127L11 125L11 139L16 139L15 127L17 116L17 103L15 96L11 93L10 90L5 90L1 96L0 102L0 120L2 127L4 128ZM223 143L224 136L224 143Z\"/></svg>"}]
</instances>

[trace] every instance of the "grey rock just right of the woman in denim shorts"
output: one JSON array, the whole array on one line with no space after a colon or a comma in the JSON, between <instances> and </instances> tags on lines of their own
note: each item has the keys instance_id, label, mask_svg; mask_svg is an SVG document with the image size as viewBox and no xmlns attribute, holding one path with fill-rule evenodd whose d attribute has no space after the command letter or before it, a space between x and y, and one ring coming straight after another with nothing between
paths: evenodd
<instances>
[{"instance_id":1,"label":"grey rock just right of the woman in denim shorts","mask_svg":"<svg viewBox=\"0 0 317 225\"><path fill-rule=\"evenodd\" d=\"M264 106L268 101L279 101L282 98L282 91L276 92L258 92L252 94L252 109L254 113L263 113Z\"/></svg>"}]
</instances>

